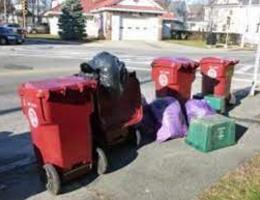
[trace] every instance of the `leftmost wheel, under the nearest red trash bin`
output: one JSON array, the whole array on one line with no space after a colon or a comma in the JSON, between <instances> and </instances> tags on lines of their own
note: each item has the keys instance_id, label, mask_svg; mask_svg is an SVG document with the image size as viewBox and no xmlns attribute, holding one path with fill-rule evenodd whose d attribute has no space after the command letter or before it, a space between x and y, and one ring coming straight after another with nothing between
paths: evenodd
<instances>
[{"instance_id":1,"label":"leftmost wheel, under the nearest red trash bin","mask_svg":"<svg viewBox=\"0 0 260 200\"><path fill-rule=\"evenodd\" d=\"M61 189L61 181L59 174L55 167L51 164L46 164L43 166L45 173L46 173L46 188L47 190L54 195L60 193Z\"/></svg>"}]
</instances>

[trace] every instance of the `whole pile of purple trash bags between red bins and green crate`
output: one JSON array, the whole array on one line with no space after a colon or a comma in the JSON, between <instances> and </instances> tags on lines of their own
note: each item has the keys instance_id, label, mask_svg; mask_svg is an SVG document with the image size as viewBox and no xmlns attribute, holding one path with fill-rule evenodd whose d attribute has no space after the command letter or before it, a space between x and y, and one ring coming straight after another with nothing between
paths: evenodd
<instances>
[{"instance_id":1,"label":"whole pile of purple trash bags between red bins and green crate","mask_svg":"<svg viewBox=\"0 0 260 200\"><path fill-rule=\"evenodd\" d=\"M144 134L156 134L158 142L185 137L192 119L216 113L203 99L190 99L184 107L174 97L157 98L150 104L143 102L144 117L139 129Z\"/></svg>"}]
</instances>

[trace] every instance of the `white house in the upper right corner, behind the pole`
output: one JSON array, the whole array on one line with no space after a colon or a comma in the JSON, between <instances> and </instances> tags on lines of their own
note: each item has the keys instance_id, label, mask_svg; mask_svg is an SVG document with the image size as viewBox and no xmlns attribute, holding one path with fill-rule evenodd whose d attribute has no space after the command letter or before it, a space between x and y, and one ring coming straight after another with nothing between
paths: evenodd
<instances>
[{"instance_id":1,"label":"white house in the upper right corner, behind the pole","mask_svg":"<svg viewBox=\"0 0 260 200\"><path fill-rule=\"evenodd\" d=\"M241 34L245 43L256 43L260 34L260 1L217 0L205 7L208 31Z\"/></svg>"}]
</instances>

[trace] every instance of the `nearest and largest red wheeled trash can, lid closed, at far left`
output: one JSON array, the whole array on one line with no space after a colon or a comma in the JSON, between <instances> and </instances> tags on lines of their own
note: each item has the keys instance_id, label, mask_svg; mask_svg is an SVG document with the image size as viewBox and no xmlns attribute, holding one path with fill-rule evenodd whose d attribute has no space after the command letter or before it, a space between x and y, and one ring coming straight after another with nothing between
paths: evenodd
<instances>
[{"instance_id":1,"label":"nearest and largest red wheeled trash can, lid closed, at far left","mask_svg":"<svg viewBox=\"0 0 260 200\"><path fill-rule=\"evenodd\" d=\"M96 155L104 156L99 148L94 153L92 145L95 89L96 81L75 76L28 82L19 88L35 153L53 194L59 193L62 181L90 171Z\"/></svg>"}]
</instances>

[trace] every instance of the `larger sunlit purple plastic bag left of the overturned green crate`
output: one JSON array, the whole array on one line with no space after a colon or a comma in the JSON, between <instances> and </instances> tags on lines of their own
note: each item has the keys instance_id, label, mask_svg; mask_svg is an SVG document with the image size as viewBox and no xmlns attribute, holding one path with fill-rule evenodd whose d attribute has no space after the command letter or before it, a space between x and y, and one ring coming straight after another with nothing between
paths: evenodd
<instances>
[{"instance_id":1,"label":"larger sunlit purple plastic bag left of the overturned green crate","mask_svg":"<svg viewBox=\"0 0 260 200\"><path fill-rule=\"evenodd\" d=\"M184 137L187 134L187 124L178 101L171 103L165 109L162 126L157 132L156 140L164 142L168 139Z\"/></svg>"}]
</instances>

